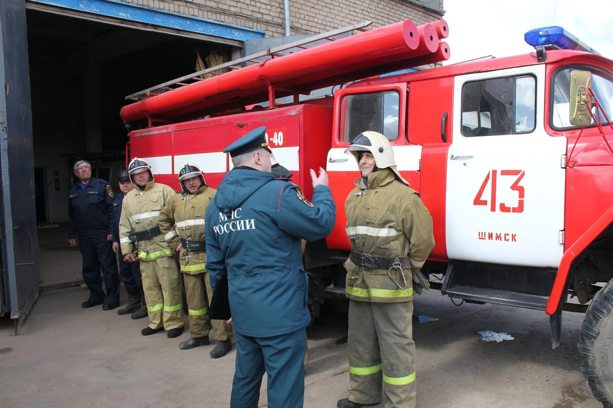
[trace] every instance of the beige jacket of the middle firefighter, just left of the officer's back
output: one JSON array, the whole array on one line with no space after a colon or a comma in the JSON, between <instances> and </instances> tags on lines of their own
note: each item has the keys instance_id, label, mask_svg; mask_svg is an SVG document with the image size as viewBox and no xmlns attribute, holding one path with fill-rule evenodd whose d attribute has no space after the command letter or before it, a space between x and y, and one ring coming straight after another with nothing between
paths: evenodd
<instances>
[{"instance_id":1,"label":"beige jacket of the middle firefighter, just left of the officer's back","mask_svg":"<svg viewBox=\"0 0 613 408\"><path fill-rule=\"evenodd\" d=\"M169 199L159 215L159 229L170 248L177 248L181 239L204 239L204 213L217 190L200 187L196 193L177 193ZM206 251L181 248L180 269L185 273L206 272Z\"/></svg>"}]
</instances>

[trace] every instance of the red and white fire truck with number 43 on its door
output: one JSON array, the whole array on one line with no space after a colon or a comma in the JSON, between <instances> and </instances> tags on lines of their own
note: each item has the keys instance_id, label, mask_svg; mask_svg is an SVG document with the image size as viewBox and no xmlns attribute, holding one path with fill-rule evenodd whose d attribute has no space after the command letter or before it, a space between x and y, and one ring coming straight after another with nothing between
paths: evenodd
<instances>
[{"instance_id":1,"label":"red and white fire truck with number 43 on its door","mask_svg":"<svg viewBox=\"0 0 613 408\"><path fill-rule=\"evenodd\" d=\"M316 317L324 291L345 290L343 208L359 173L343 151L365 130L383 133L432 213L436 247L422 272L443 275L432 286L465 302L543 310L554 348L562 311L585 313L582 370L613 407L613 61L552 27L526 33L529 54L376 76L447 59L448 32L443 20L407 20L129 95L137 102L121 111L131 129L126 155L146 158L156 180L177 189L181 166L197 163L216 187L232 169L223 148L264 125L276 160L307 196L308 169L326 168L335 229L305 247ZM343 86L300 101L333 84ZM287 95L293 103L275 103Z\"/></svg>"}]
</instances>

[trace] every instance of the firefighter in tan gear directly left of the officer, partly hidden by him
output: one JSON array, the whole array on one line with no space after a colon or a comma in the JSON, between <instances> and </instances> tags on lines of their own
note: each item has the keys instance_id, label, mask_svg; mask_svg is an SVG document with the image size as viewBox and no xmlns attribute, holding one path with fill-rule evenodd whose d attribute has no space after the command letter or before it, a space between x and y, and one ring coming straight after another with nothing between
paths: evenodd
<instances>
[{"instance_id":1,"label":"firefighter in tan gear directly left of the officer, partly hidden by him","mask_svg":"<svg viewBox=\"0 0 613 408\"><path fill-rule=\"evenodd\" d=\"M219 358L232 349L232 326L207 318L207 299L213 297L213 292L205 269L207 253L204 240L204 213L217 190L207 186L200 168L191 163L185 163L179 172L179 182L183 191L167 201L158 218L164 239L170 248L180 253L180 270L187 295L191 338L179 344L179 348L207 346L212 325L219 342L211 351L211 357Z\"/></svg>"}]
</instances>

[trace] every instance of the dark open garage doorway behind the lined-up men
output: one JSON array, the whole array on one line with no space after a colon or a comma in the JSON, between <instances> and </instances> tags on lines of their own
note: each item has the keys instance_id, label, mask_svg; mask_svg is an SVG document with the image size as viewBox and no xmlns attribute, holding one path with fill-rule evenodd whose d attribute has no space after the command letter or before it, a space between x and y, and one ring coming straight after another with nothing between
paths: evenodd
<instances>
[{"instance_id":1,"label":"dark open garage doorway behind the lined-up men","mask_svg":"<svg viewBox=\"0 0 613 408\"><path fill-rule=\"evenodd\" d=\"M125 166L125 95L194 72L196 53L229 61L234 46L26 10L32 94L34 187L42 289L79 284L81 257L67 243L77 160L113 188ZM118 191L118 190L116 190Z\"/></svg>"}]
</instances>

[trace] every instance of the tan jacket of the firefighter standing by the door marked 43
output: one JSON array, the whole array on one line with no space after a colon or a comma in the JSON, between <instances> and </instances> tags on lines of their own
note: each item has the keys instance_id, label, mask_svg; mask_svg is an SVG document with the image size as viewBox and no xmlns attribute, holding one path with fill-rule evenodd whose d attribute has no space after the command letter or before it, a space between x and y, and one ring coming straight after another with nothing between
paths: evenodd
<instances>
[{"instance_id":1,"label":"tan jacket of the firefighter standing by the door marked 43","mask_svg":"<svg viewBox=\"0 0 613 408\"><path fill-rule=\"evenodd\" d=\"M362 269L351 259L347 269L346 295L363 302L408 302L413 299L413 275L434 248L432 216L417 191L395 179L388 168L372 172L368 186L362 178L345 202L347 236L352 251L370 256L409 256L411 269L404 270L406 289L400 289L387 270ZM400 270L392 277L404 286Z\"/></svg>"}]
</instances>

